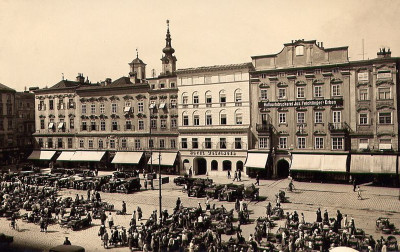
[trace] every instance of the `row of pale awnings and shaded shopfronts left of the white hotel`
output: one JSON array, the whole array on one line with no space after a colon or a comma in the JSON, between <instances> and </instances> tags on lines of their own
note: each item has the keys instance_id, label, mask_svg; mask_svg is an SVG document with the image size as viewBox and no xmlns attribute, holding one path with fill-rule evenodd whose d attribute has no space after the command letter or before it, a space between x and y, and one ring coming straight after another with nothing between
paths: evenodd
<instances>
[{"instance_id":1,"label":"row of pale awnings and shaded shopfronts left of the white hotel","mask_svg":"<svg viewBox=\"0 0 400 252\"><path fill-rule=\"evenodd\" d=\"M53 151L34 150L28 160L40 167L84 168L91 170L158 170L179 173L177 152L138 151Z\"/></svg>"}]
</instances>

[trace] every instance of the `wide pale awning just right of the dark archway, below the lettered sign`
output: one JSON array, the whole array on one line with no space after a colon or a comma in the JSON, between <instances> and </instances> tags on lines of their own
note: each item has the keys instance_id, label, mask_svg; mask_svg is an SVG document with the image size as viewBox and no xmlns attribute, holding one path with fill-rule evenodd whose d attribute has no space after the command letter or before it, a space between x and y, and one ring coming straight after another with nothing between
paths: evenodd
<instances>
[{"instance_id":1,"label":"wide pale awning just right of the dark archway, below the lettered sign","mask_svg":"<svg viewBox=\"0 0 400 252\"><path fill-rule=\"evenodd\" d=\"M347 155L293 154L292 171L346 172Z\"/></svg>"}]
</instances>

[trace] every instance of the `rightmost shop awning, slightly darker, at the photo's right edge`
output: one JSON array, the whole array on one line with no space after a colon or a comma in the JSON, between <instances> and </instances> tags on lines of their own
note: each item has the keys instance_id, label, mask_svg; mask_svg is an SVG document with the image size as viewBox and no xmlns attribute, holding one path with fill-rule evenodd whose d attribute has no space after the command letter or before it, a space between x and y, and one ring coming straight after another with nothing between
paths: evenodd
<instances>
[{"instance_id":1,"label":"rightmost shop awning, slightly darker, at the photo's right edge","mask_svg":"<svg viewBox=\"0 0 400 252\"><path fill-rule=\"evenodd\" d=\"M351 155L350 173L396 174L396 156Z\"/></svg>"}]
</instances>

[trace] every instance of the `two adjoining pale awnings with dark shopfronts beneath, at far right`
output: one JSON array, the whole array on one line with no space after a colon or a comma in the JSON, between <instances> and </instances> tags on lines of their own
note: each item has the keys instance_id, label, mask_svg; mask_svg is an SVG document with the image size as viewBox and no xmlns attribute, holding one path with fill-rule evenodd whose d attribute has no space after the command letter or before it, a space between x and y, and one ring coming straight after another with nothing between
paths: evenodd
<instances>
[{"instance_id":1,"label":"two adjoining pale awnings with dark shopfronts beneath, at far right","mask_svg":"<svg viewBox=\"0 0 400 252\"><path fill-rule=\"evenodd\" d=\"M291 176L297 180L398 185L398 157L389 154L292 154Z\"/></svg>"}]
</instances>

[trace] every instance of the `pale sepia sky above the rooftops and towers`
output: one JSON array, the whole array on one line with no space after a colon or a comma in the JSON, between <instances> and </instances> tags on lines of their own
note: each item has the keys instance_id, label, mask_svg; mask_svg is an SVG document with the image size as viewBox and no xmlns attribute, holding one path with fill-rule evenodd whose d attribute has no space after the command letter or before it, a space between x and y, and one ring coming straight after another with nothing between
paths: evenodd
<instances>
[{"instance_id":1,"label":"pale sepia sky above the rooftops and towers","mask_svg":"<svg viewBox=\"0 0 400 252\"><path fill-rule=\"evenodd\" d=\"M78 73L128 76L136 58L161 71L166 20L177 68L251 62L292 40L349 46L350 60L379 48L400 56L398 0L0 0L0 83L50 87Z\"/></svg>"}]
</instances>

